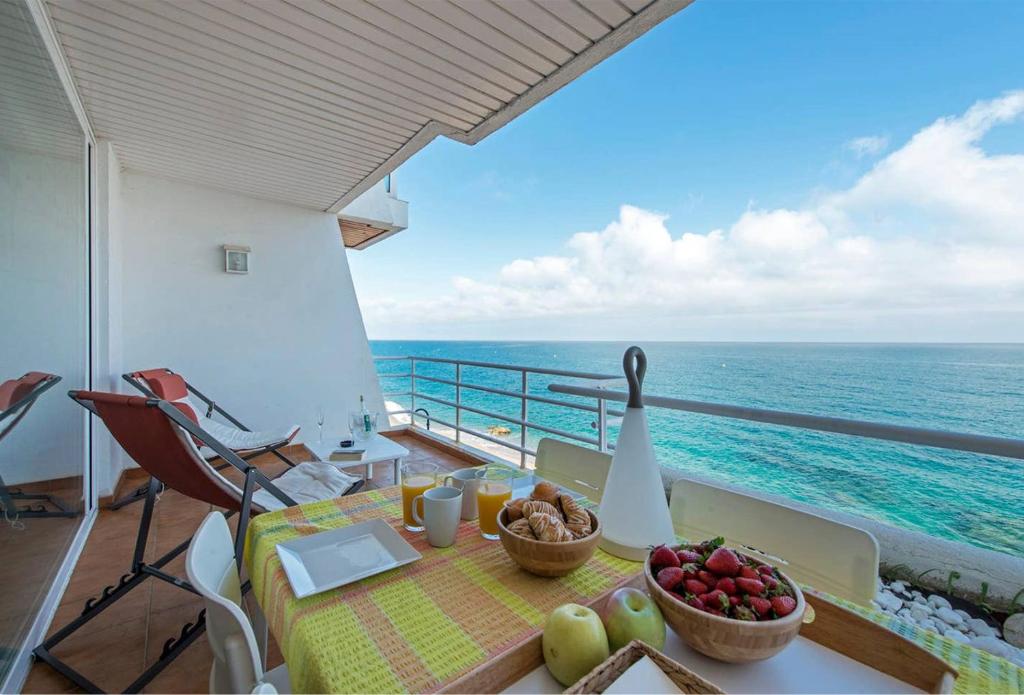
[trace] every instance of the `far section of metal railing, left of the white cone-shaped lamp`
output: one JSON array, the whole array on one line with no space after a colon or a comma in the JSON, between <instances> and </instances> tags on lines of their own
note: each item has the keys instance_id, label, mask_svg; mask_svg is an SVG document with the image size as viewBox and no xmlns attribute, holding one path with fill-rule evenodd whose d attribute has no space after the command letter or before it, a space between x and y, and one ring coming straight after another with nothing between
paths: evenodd
<instances>
[{"instance_id":1,"label":"far section of metal railing, left of the white cone-shaped lamp","mask_svg":"<svg viewBox=\"0 0 1024 695\"><path fill-rule=\"evenodd\" d=\"M587 403L575 403L559 398L550 398L547 396L542 396L536 393L529 392L529 375L546 375L552 377L566 377L570 379L581 379L588 382L596 383L600 387L608 387L612 385L621 385L623 378L617 375L608 374L597 374L592 372L572 372L569 370L551 370L541 366L519 366L515 364L503 364L499 362L480 362L471 359L447 359L443 357L419 357L419 356L375 356L375 361L409 361L409 372L401 372L396 374L380 374L378 373L378 378L381 380L395 380L395 379L408 379L409 380L409 390L408 391L385 391L382 395L385 398L402 398L408 397L411 399L411 405L409 408L403 408L400 410L388 410L386 415L408 415L410 417L410 422L415 426L417 410L422 408L417 406L419 401L428 401L431 403L437 403L438 405L445 405L455 409L455 422L450 423L441 418L438 418L436 414L429 416L429 421L436 423L438 425L443 425L444 427L452 428L455 431L455 440L457 442L462 442L463 434L467 434L473 437L477 437L484 441L488 441L494 444L499 444L501 446L507 447L519 453L519 466L524 467L526 465L526 457L537 455L537 451L527 446L526 432L528 430L537 430L539 432L546 432L548 434L553 434L565 439L570 439L572 441L578 441L584 444L590 444L596 446L601 450L608 449L608 418L622 417L624 414L622 410L609 409L604 398L601 397L601 390L594 389L596 396L594 400L596 403L590 405ZM451 364L455 367L455 379L444 379L437 376L431 376L416 371L417 364L422 363L433 363L433 364ZM472 382L467 382L463 380L462 373L463 367L478 367L483 370L498 370L503 372L512 372L519 374L519 389L510 390L498 388L495 386L486 386L483 384L476 384ZM427 382L431 384L441 384L444 386L452 386L455 388L455 400L450 400L447 398L441 398L434 394L424 393L422 390L417 388L417 384L420 382ZM477 405L470 405L463 402L463 390L469 389L472 391L478 391L481 393L490 393L498 396L508 396L510 398L517 398L519 400L519 417L515 418L512 416L504 415L501 412L494 412L485 408L479 407ZM596 437L589 437L586 435L581 435L575 432L567 432L565 430L559 429L557 427L551 427L549 425L544 425L541 423L532 422L529 419L529 403L545 403L548 405L556 405L560 407L572 408L575 410L581 410L584 412L591 412L596 416L594 422L592 423L592 428L596 430ZM480 432L470 427L466 427L463 424L463 412L472 412L474 415L483 416L485 418L494 418L503 423L509 423L519 427L519 443L513 443L502 439L501 437L496 437L485 432Z\"/></svg>"}]
</instances>

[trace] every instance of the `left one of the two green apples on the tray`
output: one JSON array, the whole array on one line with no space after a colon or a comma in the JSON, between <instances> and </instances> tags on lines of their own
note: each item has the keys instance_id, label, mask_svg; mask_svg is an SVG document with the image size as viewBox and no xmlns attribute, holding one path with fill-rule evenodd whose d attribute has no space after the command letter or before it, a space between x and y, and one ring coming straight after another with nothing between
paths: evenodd
<instances>
[{"instance_id":1,"label":"left one of the two green apples on the tray","mask_svg":"<svg viewBox=\"0 0 1024 695\"><path fill-rule=\"evenodd\" d=\"M563 686L582 679L610 653L601 616L574 603L551 612L544 625L541 646L548 670Z\"/></svg>"}]
</instances>

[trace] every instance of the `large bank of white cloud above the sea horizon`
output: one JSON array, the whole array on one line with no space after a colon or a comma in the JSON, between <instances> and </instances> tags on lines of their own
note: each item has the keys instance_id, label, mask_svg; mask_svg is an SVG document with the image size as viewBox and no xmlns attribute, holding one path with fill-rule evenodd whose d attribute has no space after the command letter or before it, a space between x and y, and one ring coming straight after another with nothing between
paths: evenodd
<instances>
[{"instance_id":1,"label":"large bank of white cloud above the sea horizon","mask_svg":"<svg viewBox=\"0 0 1024 695\"><path fill-rule=\"evenodd\" d=\"M563 255L517 259L485 280L456 277L439 298L367 301L368 324L1018 312L1024 156L988 155L979 141L1022 115L1024 91L979 101L846 190L801 209L748 210L710 231L674 235L665 215L624 205L604 229L573 234Z\"/></svg>"}]
</instances>

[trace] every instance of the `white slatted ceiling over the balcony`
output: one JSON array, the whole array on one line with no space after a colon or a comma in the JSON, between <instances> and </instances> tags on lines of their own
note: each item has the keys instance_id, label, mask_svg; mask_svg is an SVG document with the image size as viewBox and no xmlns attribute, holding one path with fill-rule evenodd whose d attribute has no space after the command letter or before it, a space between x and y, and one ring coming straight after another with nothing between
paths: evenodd
<instances>
[{"instance_id":1,"label":"white slatted ceiling over the balcony","mask_svg":"<svg viewBox=\"0 0 1024 695\"><path fill-rule=\"evenodd\" d=\"M336 212L692 0L46 0L123 166Z\"/></svg>"}]
</instances>

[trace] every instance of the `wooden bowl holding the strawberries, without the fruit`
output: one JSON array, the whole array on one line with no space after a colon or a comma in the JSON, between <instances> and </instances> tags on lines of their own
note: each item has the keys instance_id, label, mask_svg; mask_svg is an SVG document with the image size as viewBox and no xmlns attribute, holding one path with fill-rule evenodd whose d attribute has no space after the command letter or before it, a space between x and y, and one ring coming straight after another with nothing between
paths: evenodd
<instances>
[{"instance_id":1,"label":"wooden bowl holding the strawberries, without the fruit","mask_svg":"<svg viewBox=\"0 0 1024 695\"><path fill-rule=\"evenodd\" d=\"M643 573L647 593L662 609L665 621L686 644L713 659L729 663L767 659L782 651L800 633L807 604L800 587L781 572L779 577L793 589L797 607L784 617L762 622L720 617L687 606L654 580L649 555L644 561Z\"/></svg>"}]
</instances>

